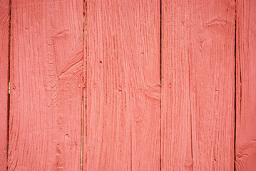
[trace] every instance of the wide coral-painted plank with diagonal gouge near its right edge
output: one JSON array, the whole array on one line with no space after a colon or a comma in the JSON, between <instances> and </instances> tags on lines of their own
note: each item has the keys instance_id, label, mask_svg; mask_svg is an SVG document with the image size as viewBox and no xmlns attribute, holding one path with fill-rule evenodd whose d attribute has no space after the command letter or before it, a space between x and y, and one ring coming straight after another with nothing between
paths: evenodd
<instances>
[{"instance_id":1,"label":"wide coral-painted plank with diagonal gouge near its right edge","mask_svg":"<svg viewBox=\"0 0 256 171\"><path fill-rule=\"evenodd\" d=\"M80 170L83 1L11 1L9 170Z\"/></svg>"}]
</instances>

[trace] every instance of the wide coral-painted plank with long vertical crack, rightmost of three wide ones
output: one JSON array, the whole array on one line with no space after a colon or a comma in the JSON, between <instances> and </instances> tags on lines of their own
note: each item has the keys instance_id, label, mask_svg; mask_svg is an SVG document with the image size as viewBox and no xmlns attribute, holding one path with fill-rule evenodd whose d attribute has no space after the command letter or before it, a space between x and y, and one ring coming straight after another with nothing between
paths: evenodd
<instances>
[{"instance_id":1,"label":"wide coral-painted plank with long vertical crack, rightmost of three wide ones","mask_svg":"<svg viewBox=\"0 0 256 171\"><path fill-rule=\"evenodd\" d=\"M233 170L235 2L162 0L162 170Z\"/></svg>"}]
</instances>

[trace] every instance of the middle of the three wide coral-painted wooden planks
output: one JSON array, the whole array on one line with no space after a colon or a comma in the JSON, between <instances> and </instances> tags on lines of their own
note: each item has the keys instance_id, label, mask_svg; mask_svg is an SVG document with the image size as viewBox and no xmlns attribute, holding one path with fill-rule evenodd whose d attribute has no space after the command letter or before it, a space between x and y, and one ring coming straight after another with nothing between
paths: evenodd
<instances>
[{"instance_id":1,"label":"middle of the three wide coral-painted wooden planks","mask_svg":"<svg viewBox=\"0 0 256 171\"><path fill-rule=\"evenodd\" d=\"M87 1L84 170L160 169L160 1Z\"/></svg>"}]
</instances>

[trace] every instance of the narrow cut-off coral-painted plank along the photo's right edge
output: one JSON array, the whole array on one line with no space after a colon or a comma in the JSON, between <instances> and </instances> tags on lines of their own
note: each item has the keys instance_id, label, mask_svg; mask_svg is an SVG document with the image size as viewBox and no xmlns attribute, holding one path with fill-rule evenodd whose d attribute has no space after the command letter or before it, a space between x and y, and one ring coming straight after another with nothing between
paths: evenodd
<instances>
[{"instance_id":1,"label":"narrow cut-off coral-painted plank along the photo's right edge","mask_svg":"<svg viewBox=\"0 0 256 171\"><path fill-rule=\"evenodd\" d=\"M256 170L256 1L237 1L236 170Z\"/></svg>"}]
</instances>

